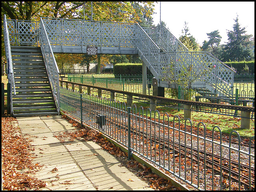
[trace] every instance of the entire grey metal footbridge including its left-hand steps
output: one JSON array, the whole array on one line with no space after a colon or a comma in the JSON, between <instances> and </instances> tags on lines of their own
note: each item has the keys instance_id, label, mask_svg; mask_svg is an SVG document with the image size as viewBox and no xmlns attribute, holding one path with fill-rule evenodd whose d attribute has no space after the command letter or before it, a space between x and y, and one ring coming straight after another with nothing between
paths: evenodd
<instances>
[{"instance_id":1,"label":"entire grey metal footbridge including its left-hand steps","mask_svg":"<svg viewBox=\"0 0 256 192\"><path fill-rule=\"evenodd\" d=\"M161 80L172 64L174 78L182 67L198 76L192 87L232 94L234 72L208 52L192 52L163 25L142 28L134 23L40 18L40 21L7 20L4 16L4 43L11 83L11 114L35 116L59 114L59 69L54 53L139 55L142 59L143 93L146 94L146 67L152 72L162 96ZM199 75L198 75L199 74Z\"/></svg>"}]
</instances>

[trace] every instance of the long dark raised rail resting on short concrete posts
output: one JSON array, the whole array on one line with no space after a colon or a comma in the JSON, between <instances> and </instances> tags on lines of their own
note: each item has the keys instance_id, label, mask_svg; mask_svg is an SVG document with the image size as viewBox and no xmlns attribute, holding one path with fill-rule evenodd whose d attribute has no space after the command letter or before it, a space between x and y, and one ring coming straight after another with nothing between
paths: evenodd
<instances>
[{"instance_id":1,"label":"long dark raised rail resting on short concrete posts","mask_svg":"<svg viewBox=\"0 0 256 192\"><path fill-rule=\"evenodd\" d=\"M90 87L90 88L106 90L106 91L110 91L110 92L116 92L116 93L120 93L120 94L138 96L138 97L148 98L148 99L164 100L164 101L168 101L168 102L176 102L176 103L191 105L191 106L202 106L202 107L222 108L222 109L254 112L254 107L250 107L250 106L234 106L234 105L217 104L217 103L213 104L213 103L206 103L206 102L199 102L199 101L188 101L188 100L182 100L182 99L171 99L171 98L165 98L165 97L160 97L160 96L150 96L150 95L145 95L145 94L140 94L140 93L131 93L131 92L127 92L127 91L114 90L114 89L110 89L110 88L103 88L103 87L93 86L93 85L88 85L88 84L75 83L75 82L70 82L70 81L66 81L66 80L59 80L59 81L69 83L69 84L76 84L76 85L80 85L80 86L86 86L86 87Z\"/></svg>"}]
</instances>

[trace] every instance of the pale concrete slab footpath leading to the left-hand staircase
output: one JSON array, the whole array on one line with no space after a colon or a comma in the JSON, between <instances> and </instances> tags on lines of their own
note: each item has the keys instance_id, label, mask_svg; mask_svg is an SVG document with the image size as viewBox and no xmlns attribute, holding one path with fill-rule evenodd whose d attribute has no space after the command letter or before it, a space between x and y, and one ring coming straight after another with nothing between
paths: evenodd
<instances>
[{"instance_id":1,"label":"pale concrete slab footpath leading to the left-hand staircase","mask_svg":"<svg viewBox=\"0 0 256 192\"><path fill-rule=\"evenodd\" d=\"M43 165L33 175L48 184L40 190L153 190L97 143L60 142L54 132L76 129L61 116L16 119L12 124L33 139L32 153L37 155L33 163Z\"/></svg>"}]
</instances>

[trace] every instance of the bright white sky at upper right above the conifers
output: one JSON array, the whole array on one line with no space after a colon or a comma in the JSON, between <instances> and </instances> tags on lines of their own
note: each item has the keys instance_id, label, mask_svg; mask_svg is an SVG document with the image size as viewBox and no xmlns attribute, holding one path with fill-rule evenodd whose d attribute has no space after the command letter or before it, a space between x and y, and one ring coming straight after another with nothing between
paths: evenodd
<instances>
[{"instance_id":1,"label":"bright white sky at upper right above the conifers","mask_svg":"<svg viewBox=\"0 0 256 192\"><path fill-rule=\"evenodd\" d=\"M155 3L153 21L160 22L160 2ZM161 20L170 32L179 38L188 23L190 35L202 45L208 41L206 33L219 30L221 44L228 42L227 30L233 31L234 19L238 15L240 27L254 35L254 2L161 2Z\"/></svg>"}]
</instances>

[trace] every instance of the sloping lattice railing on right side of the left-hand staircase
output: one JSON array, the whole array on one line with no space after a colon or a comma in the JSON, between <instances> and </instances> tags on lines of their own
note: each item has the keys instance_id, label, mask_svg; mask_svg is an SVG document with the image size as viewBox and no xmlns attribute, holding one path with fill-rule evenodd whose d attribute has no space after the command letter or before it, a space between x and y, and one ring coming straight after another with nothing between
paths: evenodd
<instances>
[{"instance_id":1,"label":"sloping lattice railing on right side of the left-hand staircase","mask_svg":"<svg viewBox=\"0 0 256 192\"><path fill-rule=\"evenodd\" d=\"M46 65L46 70L48 73L48 77L50 80L52 92L54 95L54 100L56 102L58 114L60 114L60 94L59 94L59 76L60 72L58 69L58 65L55 61L55 57L53 55L52 47L50 44L50 41L47 36L46 29L44 27L42 18L41 24L40 24L40 44L41 44L41 50L42 50L42 55L44 57L44 63Z\"/></svg>"}]
</instances>

